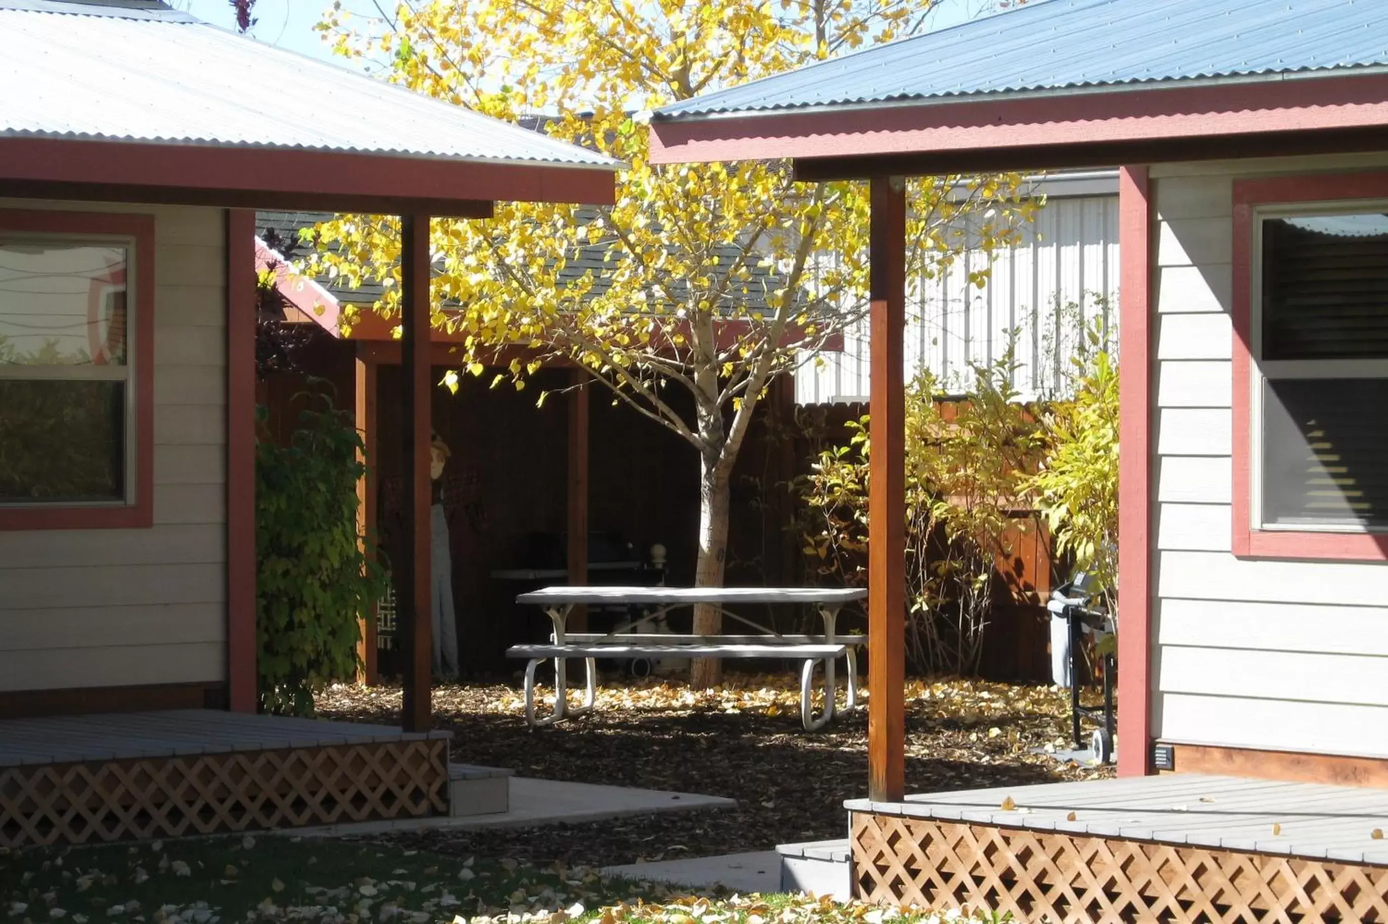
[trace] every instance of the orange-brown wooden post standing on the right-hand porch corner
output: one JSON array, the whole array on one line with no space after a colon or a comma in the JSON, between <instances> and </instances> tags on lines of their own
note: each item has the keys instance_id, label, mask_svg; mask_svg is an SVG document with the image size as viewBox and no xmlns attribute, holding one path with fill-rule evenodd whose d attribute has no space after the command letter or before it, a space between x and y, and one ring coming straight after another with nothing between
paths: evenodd
<instances>
[{"instance_id":1,"label":"orange-brown wooden post standing on the right-hand porch corner","mask_svg":"<svg viewBox=\"0 0 1388 924\"><path fill-rule=\"evenodd\" d=\"M867 487L867 796L906 795L906 191L872 179Z\"/></svg>"}]
</instances>

